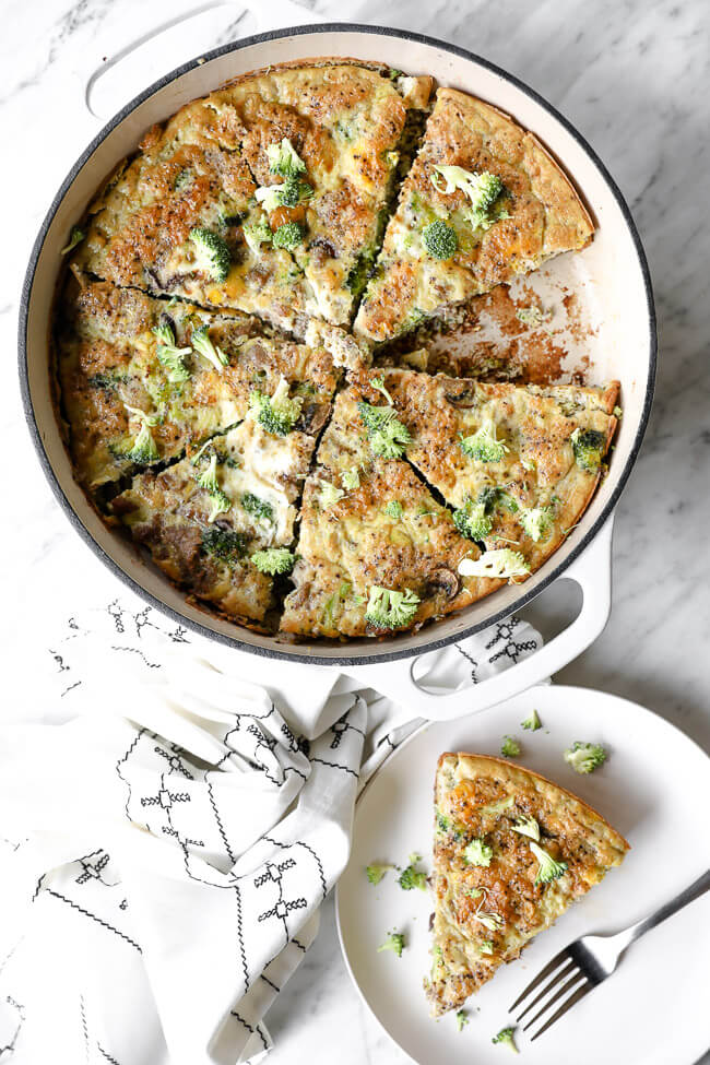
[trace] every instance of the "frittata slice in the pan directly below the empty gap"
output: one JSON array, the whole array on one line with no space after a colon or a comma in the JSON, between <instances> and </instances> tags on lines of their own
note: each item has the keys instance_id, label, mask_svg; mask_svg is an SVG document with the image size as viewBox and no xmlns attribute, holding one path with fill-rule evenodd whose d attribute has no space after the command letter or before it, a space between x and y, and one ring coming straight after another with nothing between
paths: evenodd
<instances>
[{"instance_id":1,"label":"frittata slice in the pan directly below the empty gap","mask_svg":"<svg viewBox=\"0 0 710 1065\"><path fill-rule=\"evenodd\" d=\"M516 580L539 569L594 493L618 382L517 387L400 369L381 379L412 437L407 459L486 547L474 568Z\"/></svg>"}]
</instances>

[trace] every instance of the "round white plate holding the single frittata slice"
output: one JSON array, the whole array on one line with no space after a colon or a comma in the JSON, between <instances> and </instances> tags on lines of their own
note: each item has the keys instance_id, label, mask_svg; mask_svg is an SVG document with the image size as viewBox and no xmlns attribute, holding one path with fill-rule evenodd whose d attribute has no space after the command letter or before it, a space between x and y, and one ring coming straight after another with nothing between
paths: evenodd
<instances>
[{"instance_id":1,"label":"round white plate holding the single frittata slice","mask_svg":"<svg viewBox=\"0 0 710 1065\"><path fill-rule=\"evenodd\" d=\"M543 729L520 722L537 709ZM422 979L430 968L422 891L403 891L391 873L377 887L365 866L405 865L418 851L431 867L433 782L445 750L497 755L505 734L522 744L521 765L569 788L604 814L631 844L618 869L593 888L519 961L500 969L469 1001L470 1023L428 1016ZM575 739L603 743L608 760L587 777L563 760ZM421 1065L508 1061L492 1037L511 1022L508 1007L561 947L585 933L616 932L650 913L710 864L710 760L687 736L642 707L584 688L531 688L468 720L429 725L399 748L357 805L353 852L338 887L345 961L365 1003L389 1036ZM387 933L405 933L401 958L377 954ZM638 940L616 973L539 1040L520 1028L525 1063L686 1065L710 1043L710 894ZM533 1029L534 1030L534 1029ZM580 1038L581 1036L581 1038Z\"/></svg>"}]
</instances>

